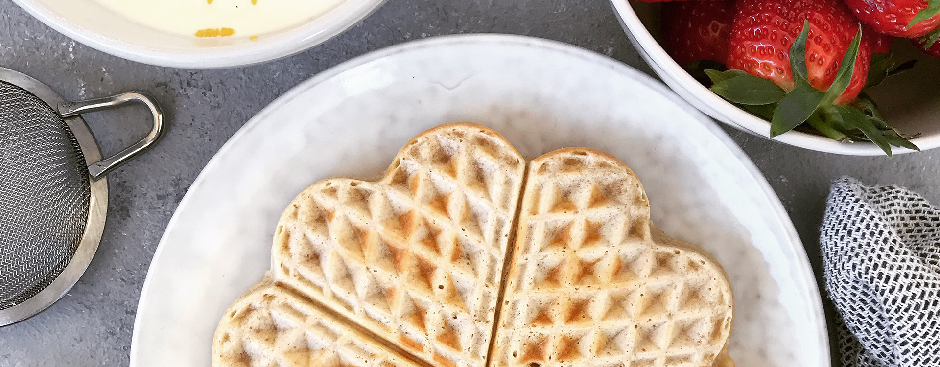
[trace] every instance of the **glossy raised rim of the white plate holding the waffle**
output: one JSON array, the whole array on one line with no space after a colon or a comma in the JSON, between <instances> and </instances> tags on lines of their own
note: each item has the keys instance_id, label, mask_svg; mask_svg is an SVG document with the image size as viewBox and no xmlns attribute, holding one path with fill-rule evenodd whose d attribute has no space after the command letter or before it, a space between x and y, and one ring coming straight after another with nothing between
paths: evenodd
<instances>
[{"instance_id":1,"label":"glossy raised rim of the white plate holding the waffle","mask_svg":"<svg viewBox=\"0 0 940 367\"><path fill-rule=\"evenodd\" d=\"M564 43L561 41L556 41L546 38L535 38L530 36L520 36L520 35L507 35L507 34L492 34L492 33L482 33L482 34L456 34L456 35L446 35L446 36L437 36L431 38L422 38L413 41L399 43L393 46L385 47L376 51L369 52L367 54L361 54L359 56L353 57L350 60L344 61L336 66L325 69L320 73L315 74L304 82L297 84L290 88L283 95L274 99L270 104L261 109L258 114L252 116L245 124L236 131L227 142L219 148L219 150L212 156L209 162L206 163L206 166L203 167L202 171L199 172L199 175L196 176L196 179L193 181L193 184L190 185L189 189L183 195L183 198L180 200L180 204L176 207L173 212L173 217L170 218L170 221L167 222L166 228L164 229L164 234L160 238L160 242L157 245L157 249L153 253L153 257L150 260L150 265L148 267L147 276L144 280L144 285L141 288L140 298L137 301L137 311L134 315L133 323L133 334L131 341L131 351L130 351L130 365L131 367L136 367L137 359L137 341L139 340L138 333L140 332L140 323L141 321L141 308L148 307L144 303L144 296L148 294L150 287L150 279L152 272L150 271L154 264L157 263L157 259L162 255L164 251L164 243L167 239L167 235L173 230L180 222L180 216L178 215L181 208L186 207L189 202L192 200L192 193L196 191L200 186L203 185L203 182L207 179L206 176L215 169L215 166L221 164L221 156L224 156L227 151L234 149L234 146L238 143L239 140L249 134L251 131L258 129L258 125L261 121L267 119L268 115L274 114L275 111L281 109L284 105L290 103L294 99L299 98L308 90L316 87L323 82L326 82L337 75L354 69L368 63L371 63L376 60L383 59L388 56L395 54L406 53L415 49L423 48L434 48L434 47L445 47L445 46L461 46L462 44L467 43L509 43L517 47L527 47L542 49L544 51L551 51L563 54L570 54L574 57L579 57L585 59L589 62L595 62L599 65L602 65L605 68L612 69L615 72L624 73L639 80L641 83L646 84L651 89L658 91L663 97L672 101L676 104L677 107L681 108L683 112L686 112L692 117L694 117L699 123L705 126L706 129L710 130L715 137L725 145L731 155L739 161L744 170L747 171L757 185L760 187L760 191L767 197L770 206L774 208L774 217L780 226L783 227L783 230L786 232L787 239L786 242L791 243L792 250L796 252L796 255L799 256L804 261L799 261L799 264L795 265L795 270L803 274L802 281L794 280L796 283L803 283L805 287L809 290L815 289L816 292L814 295L816 297L810 297L812 300L811 304L807 305L810 310L807 310L809 314L815 316L816 320L820 321L816 324L816 331L818 333L818 338L822 341L820 345L820 366L829 366L831 365L831 356L830 356L830 343L829 334L826 324L826 317L823 313L823 294L820 290L819 283L816 282L815 272L809 264L809 256L806 251L806 247L803 245L802 240L799 237L799 234L796 232L796 228L793 226L793 223L790 219L790 215L787 213L783 204L780 202L780 198L776 195L776 191L770 186L770 183L767 181L766 177L760 172L757 166L753 161L744 153L744 150L741 147L734 143L731 140L730 136L724 130L718 127L718 125L713 121L711 117L703 114L693 107L689 102L680 98L669 89L666 84L659 82L653 79L650 75L639 71L627 64L620 62L617 59L609 57L604 54L598 54L593 51L587 50L580 46L572 45L569 43Z\"/></svg>"}]
</instances>

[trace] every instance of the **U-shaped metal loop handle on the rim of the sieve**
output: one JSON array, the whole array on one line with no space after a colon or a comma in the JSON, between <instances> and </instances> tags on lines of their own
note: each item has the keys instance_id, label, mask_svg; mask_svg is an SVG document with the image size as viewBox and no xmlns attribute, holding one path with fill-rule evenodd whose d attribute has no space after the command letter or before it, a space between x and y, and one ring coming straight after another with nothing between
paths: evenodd
<instances>
[{"instance_id":1,"label":"U-shaped metal loop handle on the rim of the sieve","mask_svg":"<svg viewBox=\"0 0 940 367\"><path fill-rule=\"evenodd\" d=\"M150 114L153 115L153 129L150 130L149 134L147 134L143 140L136 144L121 150L118 154L89 165L88 174L92 177L99 178L107 175L108 172L118 168L118 166L124 164L124 162L130 161L140 153L147 151L150 146L160 140L165 130L164 113L160 109L160 105L144 92L127 92L102 99L78 100L64 102L59 105L59 115L62 115L62 118L67 118L102 110L110 110L124 104L135 102L143 104L150 110Z\"/></svg>"}]
</instances>

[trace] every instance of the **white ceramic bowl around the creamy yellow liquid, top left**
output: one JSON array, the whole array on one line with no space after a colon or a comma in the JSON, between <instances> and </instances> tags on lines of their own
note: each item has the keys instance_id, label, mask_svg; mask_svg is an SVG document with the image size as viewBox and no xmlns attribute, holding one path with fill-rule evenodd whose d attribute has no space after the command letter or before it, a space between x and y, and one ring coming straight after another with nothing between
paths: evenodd
<instances>
[{"instance_id":1,"label":"white ceramic bowl around the creamy yellow liquid, top left","mask_svg":"<svg viewBox=\"0 0 940 367\"><path fill-rule=\"evenodd\" d=\"M385 0L344 0L307 23L258 35L255 40L172 35L135 23L94 0L13 2L56 31L107 54L163 67L219 69L303 52L359 23Z\"/></svg>"}]
</instances>

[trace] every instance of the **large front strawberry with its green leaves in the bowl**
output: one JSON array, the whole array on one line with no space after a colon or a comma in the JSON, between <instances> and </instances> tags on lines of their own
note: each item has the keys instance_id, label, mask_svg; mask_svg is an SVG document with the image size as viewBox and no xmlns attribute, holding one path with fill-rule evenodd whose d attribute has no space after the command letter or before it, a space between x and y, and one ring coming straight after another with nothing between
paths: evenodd
<instances>
[{"instance_id":1,"label":"large front strawberry with its green leaves in the bowl","mask_svg":"<svg viewBox=\"0 0 940 367\"><path fill-rule=\"evenodd\" d=\"M891 145L917 149L874 102L858 98L878 39L840 0L738 0L735 7L729 69L705 70L715 94L770 120L771 137L805 124L839 141L870 141L888 156Z\"/></svg>"}]
</instances>

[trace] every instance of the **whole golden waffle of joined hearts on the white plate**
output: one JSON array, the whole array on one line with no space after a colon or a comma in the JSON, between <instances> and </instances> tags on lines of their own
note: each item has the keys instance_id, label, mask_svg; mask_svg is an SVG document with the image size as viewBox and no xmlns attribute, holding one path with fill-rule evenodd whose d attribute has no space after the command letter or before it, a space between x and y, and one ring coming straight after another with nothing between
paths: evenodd
<instances>
[{"instance_id":1,"label":"whole golden waffle of joined hearts on the white plate","mask_svg":"<svg viewBox=\"0 0 940 367\"><path fill-rule=\"evenodd\" d=\"M485 127L427 130L378 180L301 192L272 263L216 330L215 367L729 365L724 271L590 149L526 165Z\"/></svg>"}]
</instances>

